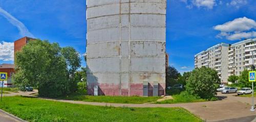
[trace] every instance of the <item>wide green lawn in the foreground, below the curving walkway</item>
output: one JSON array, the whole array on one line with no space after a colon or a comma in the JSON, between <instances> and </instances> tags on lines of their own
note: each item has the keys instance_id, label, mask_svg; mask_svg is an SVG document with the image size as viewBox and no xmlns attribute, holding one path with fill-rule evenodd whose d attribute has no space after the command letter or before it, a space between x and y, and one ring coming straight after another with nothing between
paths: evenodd
<instances>
[{"instance_id":1,"label":"wide green lawn in the foreground, below the curving walkway","mask_svg":"<svg viewBox=\"0 0 256 122\"><path fill-rule=\"evenodd\" d=\"M202 121L183 108L128 108L4 97L0 108L28 121Z\"/></svg>"}]
</instances>

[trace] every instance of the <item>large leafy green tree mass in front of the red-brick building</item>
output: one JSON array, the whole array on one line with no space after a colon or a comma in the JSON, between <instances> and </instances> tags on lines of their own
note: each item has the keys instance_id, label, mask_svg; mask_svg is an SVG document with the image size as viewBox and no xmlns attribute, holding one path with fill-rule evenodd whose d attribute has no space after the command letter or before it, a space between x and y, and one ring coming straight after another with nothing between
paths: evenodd
<instances>
[{"instance_id":1,"label":"large leafy green tree mass in front of the red-brick building","mask_svg":"<svg viewBox=\"0 0 256 122\"><path fill-rule=\"evenodd\" d=\"M13 83L20 88L36 87L42 97L67 95L73 92L68 69L74 68L68 64L68 57L69 54L62 55L57 43L30 41L15 54Z\"/></svg>"}]
</instances>

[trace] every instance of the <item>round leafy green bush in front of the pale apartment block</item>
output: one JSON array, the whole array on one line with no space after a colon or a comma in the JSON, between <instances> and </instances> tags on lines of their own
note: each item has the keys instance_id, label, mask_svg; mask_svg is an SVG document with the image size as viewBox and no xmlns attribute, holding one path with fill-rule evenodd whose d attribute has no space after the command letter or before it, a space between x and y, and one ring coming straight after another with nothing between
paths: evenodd
<instances>
[{"instance_id":1,"label":"round leafy green bush in front of the pale apartment block","mask_svg":"<svg viewBox=\"0 0 256 122\"><path fill-rule=\"evenodd\" d=\"M186 83L186 91L203 99L211 99L216 95L220 78L216 70L202 67L191 72Z\"/></svg>"}]
</instances>

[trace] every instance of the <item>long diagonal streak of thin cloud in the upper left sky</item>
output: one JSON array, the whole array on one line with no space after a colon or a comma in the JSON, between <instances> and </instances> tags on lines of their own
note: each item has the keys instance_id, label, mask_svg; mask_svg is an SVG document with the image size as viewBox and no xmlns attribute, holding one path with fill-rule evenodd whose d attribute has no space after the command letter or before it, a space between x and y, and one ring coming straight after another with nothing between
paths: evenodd
<instances>
[{"instance_id":1,"label":"long diagonal streak of thin cloud in the upper left sky","mask_svg":"<svg viewBox=\"0 0 256 122\"><path fill-rule=\"evenodd\" d=\"M7 11L2 9L0 7L0 15L4 16L11 24L16 26L19 30L19 34L23 37L28 36L35 38L29 31L28 28L19 20L17 20L15 17L13 17L11 14L9 14Z\"/></svg>"}]
</instances>

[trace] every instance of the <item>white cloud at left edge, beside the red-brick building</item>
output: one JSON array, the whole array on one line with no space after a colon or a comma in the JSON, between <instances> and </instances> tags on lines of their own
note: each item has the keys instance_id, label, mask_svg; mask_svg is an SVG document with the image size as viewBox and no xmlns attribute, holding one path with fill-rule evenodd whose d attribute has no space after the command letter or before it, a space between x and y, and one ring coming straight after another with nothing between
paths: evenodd
<instances>
[{"instance_id":1,"label":"white cloud at left edge, beside the red-brick building","mask_svg":"<svg viewBox=\"0 0 256 122\"><path fill-rule=\"evenodd\" d=\"M14 60L14 44L13 42L0 43L0 60L10 61Z\"/></svg>"}]
</instances>

